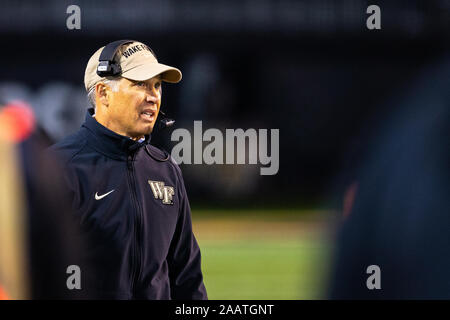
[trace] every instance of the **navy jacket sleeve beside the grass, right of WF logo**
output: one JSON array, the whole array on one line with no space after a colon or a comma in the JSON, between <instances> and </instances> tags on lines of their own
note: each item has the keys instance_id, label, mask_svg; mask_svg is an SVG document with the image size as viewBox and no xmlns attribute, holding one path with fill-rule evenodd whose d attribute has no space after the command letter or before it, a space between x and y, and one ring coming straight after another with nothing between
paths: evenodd
<instances>
[{"instance_id":1,"label":"navy jacket sleeve beside the grass, right of WF logo","mask_svg":"<svg viewBox=\"0 0 450 320\"><path fill-rule=\"evenodd\" d=\"M176 169L179 177L180 212L167 257L171 298L174 300L207 300L208 296L201 271L200 248L192 232L189 200L181 170L178 166Z\"/></svg>"}]
</instances>

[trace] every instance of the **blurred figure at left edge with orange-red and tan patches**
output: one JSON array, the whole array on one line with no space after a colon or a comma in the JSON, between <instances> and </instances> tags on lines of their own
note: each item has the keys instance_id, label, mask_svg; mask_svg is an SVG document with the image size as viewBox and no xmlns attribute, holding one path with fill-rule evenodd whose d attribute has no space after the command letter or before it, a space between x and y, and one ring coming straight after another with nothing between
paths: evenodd
<instances>
[{"instance_id":1,"label":"blurred figure at left edge with orange-red and tan patches","mask_svg":"<svg viewBox=\"0 0 450 320\"><path fill-rule=\"evenodd\" d=\"M82 245L51 141L23 102L0 107L0 298L86 298L67 288Z\"/></svg>"}]
</instances>

